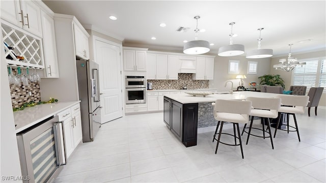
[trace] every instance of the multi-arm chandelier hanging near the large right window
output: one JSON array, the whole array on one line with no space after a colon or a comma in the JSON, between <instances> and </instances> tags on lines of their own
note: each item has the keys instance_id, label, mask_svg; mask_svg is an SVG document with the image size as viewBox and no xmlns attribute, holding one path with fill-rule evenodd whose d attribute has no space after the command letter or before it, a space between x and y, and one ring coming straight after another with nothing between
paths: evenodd
<instances>
[{"instance_id":1,"label":"multi-arm chandelier hanging near the large right window","mask_svg":"<svg viewBox=\"0 0 326 183\"><path fill-rule=\"evenodd\" d=\"M286 60L286 58L281 58L279 61L281 64L274 65L273 68L275 68L276 70L282 70L282 71L289 72L289 71L292 71L297 66L302 67L303 65L306 65L305 62L297 62L297 58L294 58L293 56L291 56L292 45L293 44L289 44L290 52L288 53L287 60Z\"/></svg>"}]
</instances>

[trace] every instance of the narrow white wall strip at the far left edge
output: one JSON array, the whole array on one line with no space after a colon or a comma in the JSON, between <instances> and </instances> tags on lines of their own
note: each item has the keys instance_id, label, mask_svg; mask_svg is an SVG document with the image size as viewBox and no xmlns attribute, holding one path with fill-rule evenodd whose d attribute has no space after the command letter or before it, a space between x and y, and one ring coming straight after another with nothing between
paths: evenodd
<instances>
[{"instance_id":1,"label":"narrow white wall strip at the far left edge","mask_svg":"<svg viewBox=\"0 0 326 183\"><path fill-rule=\"evenodd\" d=\"M2 33L2 32L1 32ZM0 33L0 40L2 41L2 34ZM3 47L2 47L3 48ZM3 180L2 176L21 176L20 162L18 156L18 146L15 132L14 114L12 111L10 88L8 81L8 72L6 66L4 49L1 49L1 96L0 96L0 138L1 138L1 182L21 182L14 180Z\"/></svg>"}]
</instances>

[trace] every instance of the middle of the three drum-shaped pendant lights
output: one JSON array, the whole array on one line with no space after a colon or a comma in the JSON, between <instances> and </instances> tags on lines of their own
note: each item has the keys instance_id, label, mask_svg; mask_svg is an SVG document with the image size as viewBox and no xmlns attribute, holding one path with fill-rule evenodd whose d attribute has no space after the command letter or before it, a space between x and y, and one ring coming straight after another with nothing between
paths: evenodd
<instances>
[{"instance_id":1,"label":"middle of the three drum-shaped pendant lights","mask_svg":"<svg viewBox=\"0 0 326 183\"><path fill-rule=\"evenodd\" d=\"M232 33L232 30L233 30L234 24L235 24L235 22L229 23L229 25L231 25L231 34L229 35L230 36L230 45L220 47L219 53L218 53L219 56L237 56L237 55L244 53L243 45L232 43L232 37L234 36L234 34Z\"/></svg>"}]
</instances>

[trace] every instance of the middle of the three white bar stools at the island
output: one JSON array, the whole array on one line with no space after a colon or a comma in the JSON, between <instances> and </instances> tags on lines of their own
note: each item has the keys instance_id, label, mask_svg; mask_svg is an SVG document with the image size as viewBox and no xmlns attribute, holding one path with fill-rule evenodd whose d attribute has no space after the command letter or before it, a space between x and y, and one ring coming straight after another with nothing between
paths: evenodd
<instances>
[{"instance_id":1,"label":"middle of the three white bar stools at the island","mask_svg":"<svg viewBox=\"0 0 326 183\"><path fill-rule=\"evenodd\" d=\"M246 144L248 144L250 135L253 135L255 137L261 137L261 138L264 138L264 139L269 137L270 138L270 143L271 143L271 148L274 149L273 139L271 138L271 132L270 132L269 118L277 118L278 110L279 110L279 108L281 106L281 99L280 98L248 97L246 99L246 101L251 101L252 106L253 106L253 109L251 109L250 114L249 114L251 116L249 131L246 132L244 130L244 129L246 129L246 126L247 126L247 124L244 124L242 134L241 134L241 135L243 135L243 132L248 133ZM262 119L261 120L262 121L262 129L252 127L255 116L260 117ZM266 130L268 130L268 131L266 131L265 127L264 127L265 121L267 123L267 129ZM258 135L251 134L251 129L256 129L256 130L263 131L263 136L258 136ZM268 137L265 136L265 132L269 134Z\"/></svg>"}]
</instances>

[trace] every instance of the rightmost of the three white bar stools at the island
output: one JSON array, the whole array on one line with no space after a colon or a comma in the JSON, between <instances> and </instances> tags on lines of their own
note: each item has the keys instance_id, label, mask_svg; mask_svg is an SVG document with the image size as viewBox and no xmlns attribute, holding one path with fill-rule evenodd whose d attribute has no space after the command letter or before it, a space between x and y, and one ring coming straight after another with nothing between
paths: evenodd
<instances>
[{"instance_id":1,"label":"rightmost of the three white bar stools at the island","mask_svg":"<svg viewBox=\"0 0 326 183\"><path fill-rule=\"evenodd\" d=\"M308 104L309 96L278 95L276 97L280 98L281 103L282 103L282 106L279 109L279 114L281 114L281 115L279 116L279 120L277 122L276 127L278 127L280 125L280 121L281 121L281 118L283 118L283 115L286 115L286 117L287 117L287 129L286 130L280 129L280 130L287 131L287 133L296 132L297 137L298 137L299 142L300 142L300 135L299 135L299 130L297 128L295 114L303 114L303 113L305 113L305 106L307 106L307 104ZM289 125L289 114L293 115L295 127L292 127L292 126ZM294 130L289 130L289 127L293 128ZM274 138L276 136L277 130L278 129L275 128Z\"/></svg>"}]
</instances>

